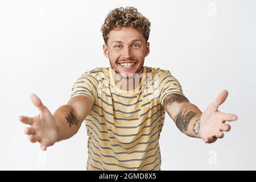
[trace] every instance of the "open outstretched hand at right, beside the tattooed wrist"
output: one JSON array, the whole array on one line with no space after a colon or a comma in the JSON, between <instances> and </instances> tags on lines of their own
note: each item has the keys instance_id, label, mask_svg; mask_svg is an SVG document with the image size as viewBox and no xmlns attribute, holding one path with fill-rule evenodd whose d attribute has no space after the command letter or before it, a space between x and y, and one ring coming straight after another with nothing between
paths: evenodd
<instances>
[{"instance_id":1,"label":"open outstretched hand at right, beside the tattooed wrist","mask_svg":"<svg viewBox=\"0 0 256 182\"><path fill-rule=\"evenodd\" d=\"M229 131L231 128L226 122L237 120L237 115L225 114L218 111L218 107L225 102L227 97L228 91L222 91L201 115L199 134L205 143L212 143L218 138L224 137L223 132Z\"/></svg>"}]
</instances>

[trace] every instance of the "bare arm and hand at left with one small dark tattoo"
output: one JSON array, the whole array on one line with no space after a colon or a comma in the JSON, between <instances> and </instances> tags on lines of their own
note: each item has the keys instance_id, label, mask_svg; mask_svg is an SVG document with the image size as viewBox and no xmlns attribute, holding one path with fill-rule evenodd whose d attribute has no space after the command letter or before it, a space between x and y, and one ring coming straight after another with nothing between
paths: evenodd
<instances>
[{"instance_id":1,"label":"bare arm and hand at left with one small dark tattoo","mask_svg":"<svg viewBox=\"0 0 256 182\"><path fill-rule=\"evenodd\" d=\"M52 115L38 96L31 94L30 98L38 107L39 114L35 117L20 116L19 120L30 125L24 129L24 133L31 142L39 142L42 150L75 135L92 109L92 101L88 97L76 96Z\"/></svg>"}]
</instances>

